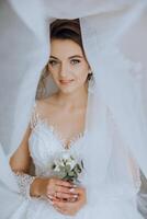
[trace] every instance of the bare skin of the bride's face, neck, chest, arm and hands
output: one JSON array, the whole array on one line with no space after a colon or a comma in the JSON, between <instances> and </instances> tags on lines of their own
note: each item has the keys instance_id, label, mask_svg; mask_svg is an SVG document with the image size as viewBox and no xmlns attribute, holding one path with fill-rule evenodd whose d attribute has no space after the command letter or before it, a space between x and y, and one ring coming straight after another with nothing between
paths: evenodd
<instances>
[{"instance_id":1,"label":"bare skin of the bride's face, neck, chest, arm and hands","mask_svg":"<svg viewBox=\"0 0 147 219\"><path fill-rule=\"evenodd\" d=\"M57 125L58 132L67 139L67 148L70 139L84 129L89 70L78 44L71 39L52 39L48 71L58 91L37 101L37 111L43 117L49 117L49 123ZM10 165L15 172L29 173L32 161L29 151L30 135L29 126L20 147L10 159ZM86 188L56 177L37 177L32 183L30 193L31 196L47 197L57 211L69 216L75 216L87 203Z\"/></svg>"}]
</instances>

